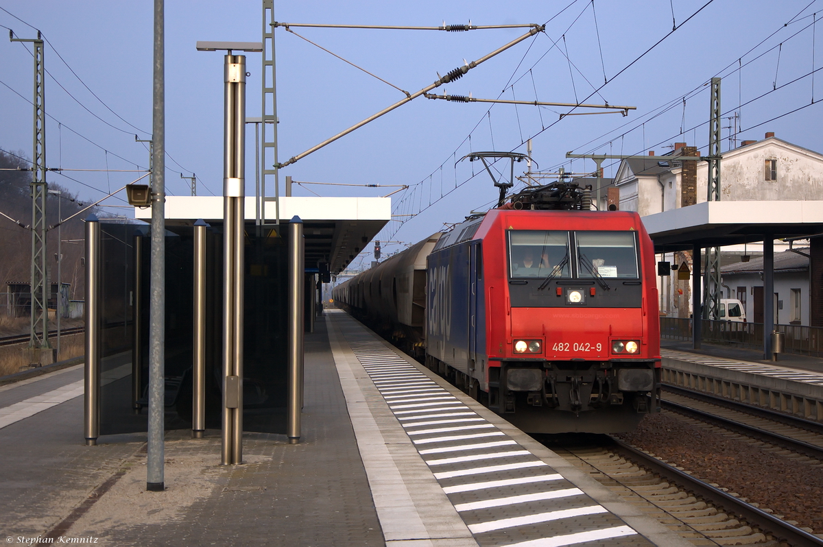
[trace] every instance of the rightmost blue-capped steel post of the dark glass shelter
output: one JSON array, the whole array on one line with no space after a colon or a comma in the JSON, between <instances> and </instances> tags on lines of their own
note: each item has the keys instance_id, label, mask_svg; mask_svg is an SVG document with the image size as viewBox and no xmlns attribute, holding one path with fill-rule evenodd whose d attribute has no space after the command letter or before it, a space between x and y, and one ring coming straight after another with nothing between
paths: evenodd
<instances>
[{"instance_id":1,"label":"rightmost blue-capped steel post of the dark glass shelter","mask_svg":"<svg viewBox=\"0 0 823 547\"><path fill-rule=\"evenodd\" d=\"M303 407L303 220L289 223L289 397L286 420L289 443L300 442L300 411Z\"/></svg>"}]
</instances>

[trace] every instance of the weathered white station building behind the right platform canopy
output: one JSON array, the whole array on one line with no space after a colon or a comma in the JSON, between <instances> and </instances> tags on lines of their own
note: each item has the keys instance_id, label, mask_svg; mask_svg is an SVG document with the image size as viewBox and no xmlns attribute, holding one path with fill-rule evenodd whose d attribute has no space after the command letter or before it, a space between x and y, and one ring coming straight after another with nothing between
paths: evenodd
<instances>
[{"instance_id":1,"label":"weathered white station building behind the right platform canopy","mask_svg":"<svg viewBox=\"0 0 823 547\"><path fill-rule=\"evenodd\" d=\"M682 206L707 201L708 164L700 160L682 160L684 155L698 155L694 147L685 143L676 143L675 149L665 155L653 155L649 158L621 161L617 169L613 186L620 192L620 209L638 211L640 216L649 216L663 211L671 211ZM762 141L743 141L742 146L723 152L720 167L721 201L724 202L775 202L775 201L821 201L823 200L823 155L810 151L766 133ZM754 215L755 213L753 213ZM753 221L755 219L753 218ZM811 253L816 253L819 245L811 246ZM782 256L788 243L775 242L775 283L788 272L779 272L777 257ZM744 254L756 257L761 253L761 245L749 243L746 248L735 246L723 248L721 254L721 271L730 275L729 264L739 262ZM793 253L792 253L793 254ZM686 262L691 267L691 255L688 252L658 255L660 262L672 262L680 266ZM705 261L701 261L703 264ZM742 274L734 274L742 275ZM815 287L809 286L808 265L806 290L802 290L801 306L807 313L802 314L802 324L823 321L823 310L814 313L815 304L811 294ZM690 283L677 280L677 276L661 276L659 282L661 315L688 318L691 314ZM782 281L780 281L782 283ZM787 281L791 284L794 281ZM821 280L816 280L820 283ZM749 292L758 285L752 280ZM795 284L797 284L795 282ZM728 285L723 281L723 285ZM742 286L742 285L741 285ZM762 288L762 283L759 285ZM737 285L736 285L737 287ZM724 296L736 298L737 288L727 291ZM777 285L775 285L777 288ZM802 286L786 287L787 290L802 289ZM731 292L732 294L727 294ZM751 294L749 294L751 297ZM797 294L795 293L795 296ZM753 299L747 299L753 302ZM785 309L788 298L783 300ZM818 308L823 304L818 305ZM808 311L811 309L811 316ZM754 309L747 310L749 317L754 317ZM816 319L820 318L820 319ZM785 313L779 317L780 322L788 321Z\"/></svg>"}]
</instances>

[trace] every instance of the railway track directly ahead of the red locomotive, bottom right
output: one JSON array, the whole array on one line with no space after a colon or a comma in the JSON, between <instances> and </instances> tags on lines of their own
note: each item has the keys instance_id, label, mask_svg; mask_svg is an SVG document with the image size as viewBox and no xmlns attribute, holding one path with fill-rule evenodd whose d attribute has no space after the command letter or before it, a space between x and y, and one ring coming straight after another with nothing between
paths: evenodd
<instances>
[{"instance_id":1,"label":"railway track directly ahead of the red locomotive, bottom right","mask_svg":"<svg viewBox=\"0 0 823 547\"><path fill-rule=\"evenodd\" d=\"M552 449L694 545L823 545L821 538L745 498L617 439L597 447Z\"/></svg>"}]
</instances>

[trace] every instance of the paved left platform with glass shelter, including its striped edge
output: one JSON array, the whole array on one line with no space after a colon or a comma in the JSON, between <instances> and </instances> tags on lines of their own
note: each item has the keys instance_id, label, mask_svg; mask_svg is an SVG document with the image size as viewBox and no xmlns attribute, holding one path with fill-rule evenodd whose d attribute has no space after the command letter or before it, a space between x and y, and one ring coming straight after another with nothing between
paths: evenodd
<instances>
[{"instance_id":1,"label":"paved left platform with glass shelter, including its striped edge","mask_svg":"<svg viewBox=\"0 0 823 547\"><path fill-rule=\"evenodd\" d=\"M244 433L220 466L219 431L170 431L160 493L145 434L84 445L82 373L0 387L9 545L690 545L336 310L306 335L300 443Z\"/></svg>"}]
</instances>

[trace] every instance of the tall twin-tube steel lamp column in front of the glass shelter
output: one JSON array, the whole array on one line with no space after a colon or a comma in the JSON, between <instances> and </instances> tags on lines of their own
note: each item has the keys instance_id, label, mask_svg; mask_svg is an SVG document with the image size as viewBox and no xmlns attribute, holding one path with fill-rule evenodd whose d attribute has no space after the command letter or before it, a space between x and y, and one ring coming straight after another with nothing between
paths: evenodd
<instances>
[{"instance_id":1,"label":"tall twin-tube steel lamp column in front of the glass shelter","mask_svg":"<svg viewBox=\"0 0 823 547\"><path fill-rule=\"evenodd\" d=\"M246 58L226 55L223 160L222 465L243 462Z\"/></svg>"}]
</instances>

